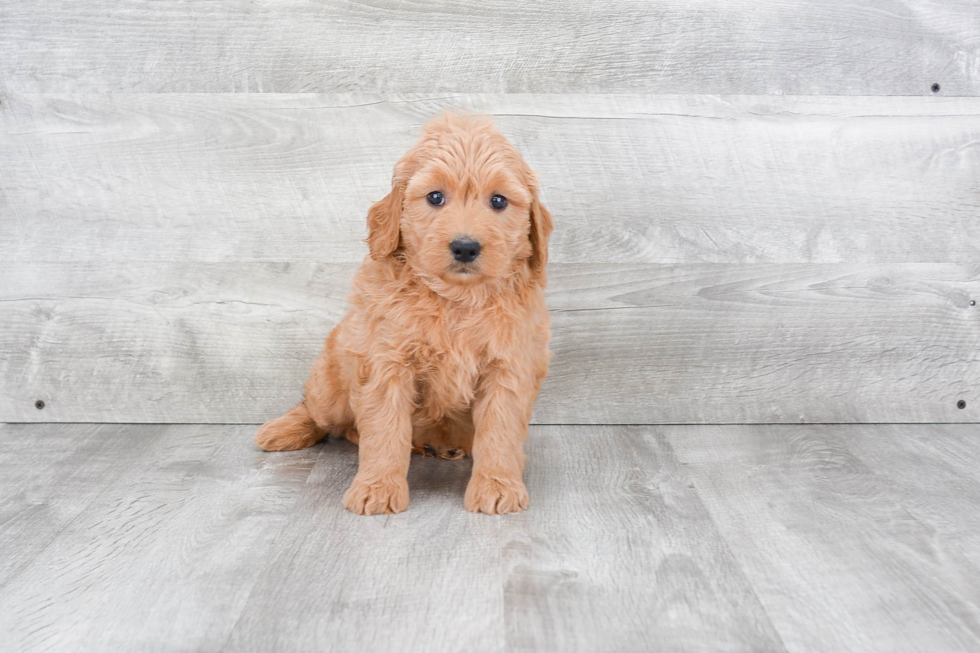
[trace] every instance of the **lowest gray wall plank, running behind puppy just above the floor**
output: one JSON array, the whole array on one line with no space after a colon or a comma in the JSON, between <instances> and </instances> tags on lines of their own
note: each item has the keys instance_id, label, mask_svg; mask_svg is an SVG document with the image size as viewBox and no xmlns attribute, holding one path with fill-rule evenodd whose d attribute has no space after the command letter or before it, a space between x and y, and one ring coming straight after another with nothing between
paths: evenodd
<instances>
[{"instance_id":1,"label":"lowest gray wall plank, running behind puppy just above the floor","mask_svg":"<svg viewBox=\"0 0 980 653\"><path fill-rule=\"evenodd\" d=\"M262 422L299 400L352 271L0 264L0 416ZM976 264L553 265L534 419L975 422L978 297Z\"/></svg>"}]
</instances>

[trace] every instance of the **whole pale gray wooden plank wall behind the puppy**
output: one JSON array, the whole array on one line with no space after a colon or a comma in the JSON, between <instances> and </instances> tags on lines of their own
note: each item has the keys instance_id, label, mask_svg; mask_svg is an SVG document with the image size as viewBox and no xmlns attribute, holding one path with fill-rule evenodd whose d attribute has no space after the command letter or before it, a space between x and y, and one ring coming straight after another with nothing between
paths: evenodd
<instances>
[{"instance_id":1,"label":"whole pale gray wooden plank wall behind the puppy","mask_svg":"<svg viewBox=\"0 0 980 653\"><path fill-rule=\"evenodd\" d=\"M447 108L556 216L536 422L978 421L977 2L524 4L4 3L0 421L284 410Z\"/></svg>"}]
</instances>

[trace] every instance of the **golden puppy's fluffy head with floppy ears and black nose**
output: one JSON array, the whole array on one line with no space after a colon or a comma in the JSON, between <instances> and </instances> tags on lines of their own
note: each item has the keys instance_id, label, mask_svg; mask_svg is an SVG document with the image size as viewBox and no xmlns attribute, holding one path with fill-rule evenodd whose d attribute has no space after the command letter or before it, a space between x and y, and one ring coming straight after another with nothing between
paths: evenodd
<instances>
[{"instance_id":1,"label":"golden puppy's fluffy head with floppy ears and black nose","mask_svg":"<svg viewBox=\"0 0 980 653\"><path fill-rule=\"evenodd\" d=\"M446 114L403 156L387 197L368 213L375 260L401 248L423 274L453 285L526 266L543 282L551 214L537 175L486 119Z\"/></svg>"}]
</instances>

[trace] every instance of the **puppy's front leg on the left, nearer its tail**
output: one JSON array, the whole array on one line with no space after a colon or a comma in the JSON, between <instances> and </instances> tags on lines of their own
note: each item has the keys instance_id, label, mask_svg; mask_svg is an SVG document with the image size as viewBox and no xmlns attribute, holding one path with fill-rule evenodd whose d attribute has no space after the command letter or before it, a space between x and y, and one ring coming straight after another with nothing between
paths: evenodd
<instances>
[{"instance_id":1,"label":"puppy's front leg on the left, nearer its tail","mask_svg":"<svg viewBox=\"0 0 980 653\"><path fill-rule=\"evenodd\" d=\"M411 371L398 363L373 370L356 394L358 469L344 495L351 512L377 515L408 507L414 395Z\"/></svg>"}]
</instances>

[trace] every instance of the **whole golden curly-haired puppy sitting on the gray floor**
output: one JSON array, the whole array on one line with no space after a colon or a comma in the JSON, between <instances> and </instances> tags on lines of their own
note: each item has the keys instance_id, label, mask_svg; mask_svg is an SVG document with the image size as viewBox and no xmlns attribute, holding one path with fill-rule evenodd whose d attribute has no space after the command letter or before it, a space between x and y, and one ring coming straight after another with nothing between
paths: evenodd
<instances>
[{"instance_id":1,"label":"whole golden curly-haired puppy sitting on the gray floor","mask_svg":"<svg viewBox=\"0 0 980 653\"><path fill-rule=\"evenodd\" d=\"M358 443L344 495L358 514L408 507L413 449L472 454L466 509L518 512L528 505L528 420L551 355L552 221L537 175L489 122L445 115L395 164L391 185L368 212L370 256L305 399L255 440L268 451L328 432Z\"/></svg>"}]
</instances>

